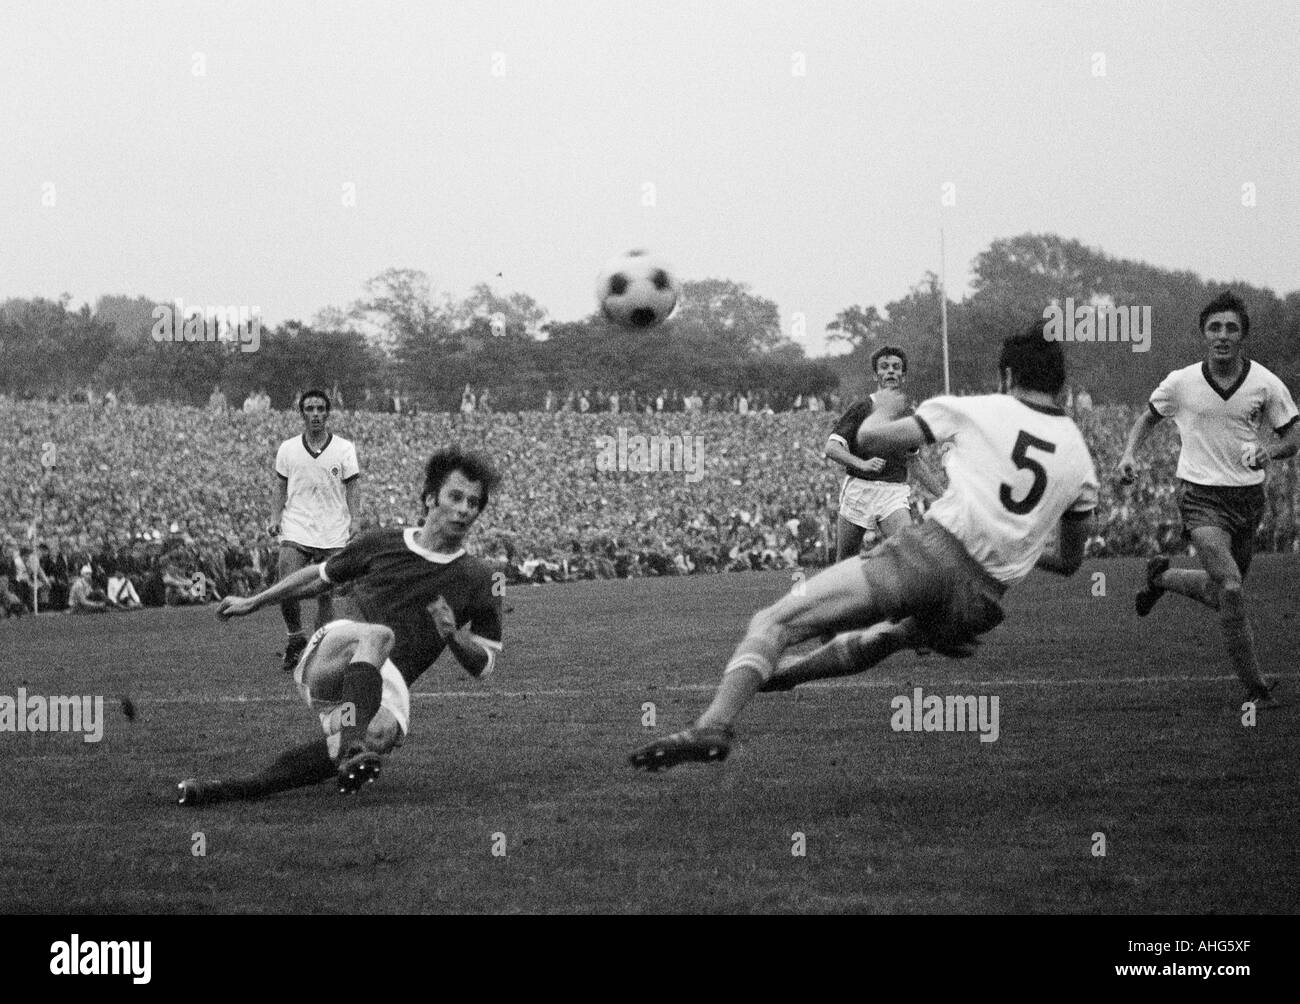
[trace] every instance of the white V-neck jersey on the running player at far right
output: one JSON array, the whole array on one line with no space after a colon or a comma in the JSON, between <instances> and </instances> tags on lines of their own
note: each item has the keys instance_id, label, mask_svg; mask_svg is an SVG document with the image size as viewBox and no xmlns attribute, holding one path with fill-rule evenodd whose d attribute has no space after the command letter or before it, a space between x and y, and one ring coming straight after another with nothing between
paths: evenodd
<instances>
[{"instance_id":1,"label":"white V-neck jersey on the running player at far right","mask_svg":"<svg viewBox=\"0 0 1300 1004\"><path fill-rule=\"evenodd\" d=\"M1178 425L1183 447L1176 475L1196 485L1261 484L1264 471L1242 463L1242 447L1258 442L1264 419L1280 436L1297 416L1287 385L1249 359L1230 388L1212 380L1208 363L1175 369L1152 393L1149 407Z\"/></svg>"}]
</instances>

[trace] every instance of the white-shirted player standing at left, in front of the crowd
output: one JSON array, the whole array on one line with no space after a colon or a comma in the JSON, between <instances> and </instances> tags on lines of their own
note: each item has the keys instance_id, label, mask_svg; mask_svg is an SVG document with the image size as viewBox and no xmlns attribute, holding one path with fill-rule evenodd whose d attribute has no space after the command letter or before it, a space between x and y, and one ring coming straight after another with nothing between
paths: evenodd
<instances>
[{"instance_id":1,"label":"white-shirted player standing at left, in front of the crowd","mask_svg":"<svg viewBox=\"0 0 1300 1004\"><path fill-rule=\"evenodd\" d=\"M276 453L276 495L266 532L280 535L277 581L308 564L320 564L352 536L358 515L356 447L329 429L329 395L308 390L298 399L303 434L285 440ZM334 619L329 593L317 601L316 629ZM296 600L280 606L289 639L282 668L292 672L307 648Z\"/></svg>"}]
</instances>

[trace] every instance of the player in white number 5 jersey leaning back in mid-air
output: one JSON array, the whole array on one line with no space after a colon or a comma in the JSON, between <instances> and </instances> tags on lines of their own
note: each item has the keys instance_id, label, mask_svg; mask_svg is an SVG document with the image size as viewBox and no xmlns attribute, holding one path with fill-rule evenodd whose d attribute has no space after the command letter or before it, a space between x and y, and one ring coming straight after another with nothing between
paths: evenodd
<instances>
[{"instance_id":1,"label":"player in white number 5 jersey leaning back in mid-air","mask_svg":"<svg viewBox=\"0 0 1300 1004\"><path fill-rule=\"evenodd\" d=\"M880 454L952 442L948 490L922 523L755 614L708 709L690 728L632 753L634 767L725 760L732 723L759 691L862 672L918 645L970 654L1002 620L1009 585L1035 566L1060 575L1079 568L1097 473L1079 429L1056 406L1065 354L1041 321L1004 342L998 382L1001 394L931 398L904 419L894 417L901 394L876 394L879 417L858 429L858 446ZM1057 524L1057 553L1044 554ZM826 631L848 633L777 668L785 649Z\"/></svg>"}]
</instances>

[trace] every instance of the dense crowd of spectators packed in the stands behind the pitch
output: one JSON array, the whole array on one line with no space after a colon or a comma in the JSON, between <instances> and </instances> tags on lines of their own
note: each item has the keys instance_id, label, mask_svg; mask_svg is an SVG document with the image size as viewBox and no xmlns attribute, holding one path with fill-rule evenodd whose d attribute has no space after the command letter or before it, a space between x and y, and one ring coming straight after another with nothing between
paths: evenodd
<instances>
[{"instance_id":1,"label":"dense crowd of spectators packed in the stands behind the pitch","mask_svg":"<svg viewBox=\"0 0 1300 1004\"><path fill-rule=\"evenodd\" d=\"M1144 447L1135 486L1110 476L1134 414L1076 412L1102 481L1092 555L1186 546L1169 423ZM360 529L417 522L422 463L439 446L459 442L491 456L504 480L469 546L514 581L824 564L835 553L840 481L822 456L833 423L833 414L807 410L625 414L608 401L586 414L335 410L332 417L333 430L358 446ZM296 412L0 398L0 425L8 473L0 616L70 603L208 602L272 581L272 464L280 442L302 432ZM625 453L601 463L611 443L637 436L682 437L699 446L703 466L692 468L696 458L681 450L664 450L655 464L676 469L621 469L636 467ZM939 458L924 462L937 468ZM1291 464L1270 472L1261 549L1300 549L1296 494Z\"/></svg>"}]
</instances>

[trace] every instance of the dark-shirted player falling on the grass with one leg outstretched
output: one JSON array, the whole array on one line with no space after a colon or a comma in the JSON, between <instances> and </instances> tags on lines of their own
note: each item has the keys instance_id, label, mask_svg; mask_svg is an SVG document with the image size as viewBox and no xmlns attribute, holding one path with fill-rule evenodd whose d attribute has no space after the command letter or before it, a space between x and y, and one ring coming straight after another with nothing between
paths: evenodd
<instances>
[{"instance_id":1,"label":"dark-shirted player falling on the grass with one leg outstretched","mask_svg":"<svg viewBox=\"0 0 1300 1004\"><path fill-rule=\"evenodd\" d=\"M352 583L346 602L358 616L325 624L294 668L325 737L286 750L247 778L183 780L181 805L257 799L329 778L342 792L356 791L378 776L382 754L402 744L410 685L443 648L473 676L493 671L500 598L491 568L462 545L497 481L484 456L439 450L425 467L422 527L365 533L257 596L221 601L217 615L225 619Z\"/></svg>"}]
</instances>

